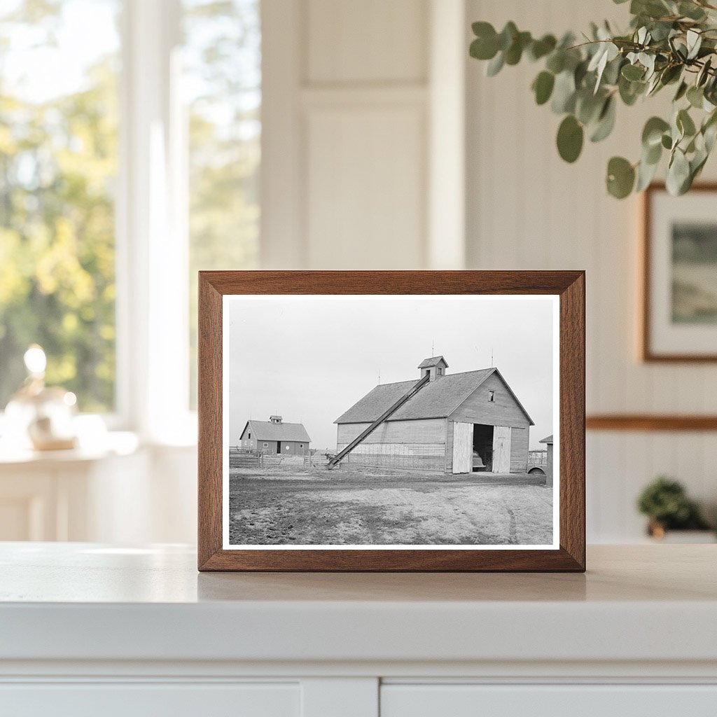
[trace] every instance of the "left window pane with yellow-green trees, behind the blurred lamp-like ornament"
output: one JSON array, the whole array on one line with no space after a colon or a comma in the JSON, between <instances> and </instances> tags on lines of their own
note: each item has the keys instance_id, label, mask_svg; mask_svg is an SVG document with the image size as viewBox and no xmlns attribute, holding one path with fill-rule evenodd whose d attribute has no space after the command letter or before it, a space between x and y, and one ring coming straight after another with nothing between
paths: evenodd
<instances>
[{"instance_id":1,"label":"left window pane with yellow-green trees, behind the blurred lamp-like ornament","mask_svg":"<svg viewBox=\"0 0 717 717\"><path fill-rule=\"evenodd\" d=\"M120 9L0 9L0 410L31 343L80 410L115 408Z\"/></svg>"}]
</instances>

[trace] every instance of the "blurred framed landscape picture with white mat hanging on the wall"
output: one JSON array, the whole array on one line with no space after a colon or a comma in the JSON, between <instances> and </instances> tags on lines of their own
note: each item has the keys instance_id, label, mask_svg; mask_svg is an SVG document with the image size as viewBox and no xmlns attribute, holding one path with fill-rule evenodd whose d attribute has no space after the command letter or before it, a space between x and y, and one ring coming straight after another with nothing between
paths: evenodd
<instances>
[{"instance_id":1,"label":"blurred framed landscape picture with white mat hanging on the wall","mask_svg":"<svg viewBox=\"0 0 717 717\"><path fill-rule=\"evenodd\" d=\"M645 192L644 361L717 361L717 184Z\"/></svg>"}]
</instances>

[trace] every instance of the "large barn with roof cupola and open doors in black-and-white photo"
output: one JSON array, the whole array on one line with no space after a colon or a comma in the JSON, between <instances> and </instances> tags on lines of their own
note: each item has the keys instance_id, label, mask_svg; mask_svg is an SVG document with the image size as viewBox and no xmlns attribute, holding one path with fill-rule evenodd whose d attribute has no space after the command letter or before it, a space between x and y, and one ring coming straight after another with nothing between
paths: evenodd
<instances>
[{"instance_id":1,"label":"large barn with roof cupola and open doors in black-and-white photo","mask_svg":"<svg viewBox=\"0 0 717 717\"><path fill-rule=\"evenodd\" d=\"M419 377L379 384L334 423L334 462L441 473L525 473L533 420L496 368L447 374L422 361Z\"/></svg>"}]
</instances>

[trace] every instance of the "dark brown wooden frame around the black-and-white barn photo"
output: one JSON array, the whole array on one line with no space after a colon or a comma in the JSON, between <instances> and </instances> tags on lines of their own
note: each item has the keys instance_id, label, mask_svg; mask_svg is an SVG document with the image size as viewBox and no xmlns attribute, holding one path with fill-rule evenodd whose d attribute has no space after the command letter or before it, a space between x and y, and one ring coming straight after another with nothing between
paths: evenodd
<instances>
[{"instance_id":1,"label":"dark brown wooden frame around the black-and-white barn photo","mask_svg":"<svg viewBox=\"0 0 717 717\"><path fill-rule=\"evenodd\" d=\"M551 549L224 547L224 298L244 295L557 297L558 539ZM585 569L585 277L581 271L199 272L200 571L569 571ZM554 336L555 338L555 336ZM247 346L247 351L250 351ZM380 381L379 381L380 383ZM490 399L488 399L490 400ZM228 405L228 402L227 402ZM552 440L552 439L551 439ZM227 445L228 455L228 445ZM228 457L227 457L228 465ZM255 548L257 546L254 546ZM505 547L505 546L504 546Z\"/></svg>"}]
</instances>

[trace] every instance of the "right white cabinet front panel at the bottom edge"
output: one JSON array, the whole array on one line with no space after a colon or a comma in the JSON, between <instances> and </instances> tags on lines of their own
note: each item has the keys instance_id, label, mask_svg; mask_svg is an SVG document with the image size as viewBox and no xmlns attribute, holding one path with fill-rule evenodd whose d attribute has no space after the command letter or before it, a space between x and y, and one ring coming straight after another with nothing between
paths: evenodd
<instances>
[{"instance_id":1,"label":"right white cabinet front panel at the bottom edge","mask_svg":"<svg viewBox=\"0 0 717 717\"><path fill-rule=\"evenodd\" d=\"M717 685L384 685L381 717L715 717Z\"/></svg>"}]
</instances>

